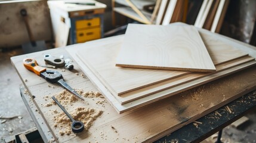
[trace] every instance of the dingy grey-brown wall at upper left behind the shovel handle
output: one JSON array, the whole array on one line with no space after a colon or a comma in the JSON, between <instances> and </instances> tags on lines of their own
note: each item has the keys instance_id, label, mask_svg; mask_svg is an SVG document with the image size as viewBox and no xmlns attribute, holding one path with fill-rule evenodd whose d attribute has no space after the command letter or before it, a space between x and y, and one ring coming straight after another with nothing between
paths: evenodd
<instances>
[{"instance_id":1,"label":"dingy grey-brown wall at upper left behind the shovel handle","mask_svg":"<svg viewBox=\"0 0 256 143\"><path fill-rule=\"evenodd\" d=\"M27 10L29 25L32 27L35 40L52 39L47 1L13 1L9 4L5 2L0 1L0 48L29 42L24 20L20 15L22 8Z\"/></svg>"}]
</instances>

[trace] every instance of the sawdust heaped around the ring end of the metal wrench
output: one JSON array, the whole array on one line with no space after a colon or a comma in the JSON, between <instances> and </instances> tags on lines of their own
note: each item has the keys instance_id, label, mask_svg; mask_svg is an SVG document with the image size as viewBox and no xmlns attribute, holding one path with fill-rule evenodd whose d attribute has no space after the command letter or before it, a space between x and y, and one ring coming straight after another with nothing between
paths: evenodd
<instances>
[{"instance_id":1,"label":"sawdust heaped around the ring end of the metal wrench","mask_svg":"<svg viewBox=\"0 0 256 143\"><path fill-rule=\"evenodd\" d=\"M92 123L99 117L103 111L101 110L95 110L93 108L86 108L86 107L78 107L72 112L70 112L70 115L73 117L73 119L81 121L84 123L85 130L90 129ZM64 113L59 113L56 116L54 116L54 127L60 128L60 135L70 135L72 133L71 130L71 121Z\"/></svg>"}]
</instances>

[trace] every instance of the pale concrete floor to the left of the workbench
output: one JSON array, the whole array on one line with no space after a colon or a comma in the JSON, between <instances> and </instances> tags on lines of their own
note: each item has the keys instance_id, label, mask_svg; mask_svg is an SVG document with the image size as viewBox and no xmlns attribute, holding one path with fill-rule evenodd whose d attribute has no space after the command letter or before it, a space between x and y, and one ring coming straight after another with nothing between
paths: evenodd
<instances>
[{"instance_id":1,"label":"pale concrete floor to the left of the workbench","mask_svg":"<svg viewBox=\"0 0 256 143\"><path fill-rule=\"evenodd\" d=\"M0 142L7 136L16 135L35 126L20 97L20 77L10 61L10 57L20 54L23 54L21 49L0 52L0 122L6 120L0 123ZM21 116L22 119L2 119L13 116Z\"/></svg>"}]
</instances>

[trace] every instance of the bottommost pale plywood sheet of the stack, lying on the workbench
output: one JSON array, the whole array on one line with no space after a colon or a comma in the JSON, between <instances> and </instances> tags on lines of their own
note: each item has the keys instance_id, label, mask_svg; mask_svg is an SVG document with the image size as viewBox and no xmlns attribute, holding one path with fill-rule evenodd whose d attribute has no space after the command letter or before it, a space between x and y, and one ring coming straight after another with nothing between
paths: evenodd
<instances>
[{"instance_id":1,"label":"bottommost pale plywood sheet of the stack, lying on the workbench","mask_svg":"<svg viewBox=\"0 0 256 143\"><path fill-rule=\"evenodd\" d=\"M216 46L218 46L219 48L221 48L221 46L224 46L222 45L223 43L228 43L227 45L229 45L230 43L230 40L223 40L225 38L219 38L218 35L213 35L212 33L210 32L207 32L205 30L201 30L199 29L201 35L208 35L212 38L209 38L209 41L212 41L213 43L215 43ZM89 44L89 42L87 44L89 45L85 45L87 47L92 47L92 46L104 46L106 44L109 44L109 43L113 43L113 41L118 41L118 38L120 38L122 36L118 36L118 37L113 37L113 38L107 38L107 39L101 39L101 44L100 42L91 42ZM121 40L121 39L119 39ZM112 42L111 42L112 41ZM216 44L216 41L220 42L218 44ZM214 45L214 44L209 44L209 45ZM235 49L236 48L241 48L241 49L248 49L246 48L246 46L242 46L241 44L236 44L236 42L234 42L234 44L232 45ZM230 46L230 47L232 47ZM229 47L229 46L227 46ZM76 50L75 50L76 51ZM239 50L235 50L235 51L239 51ZM248 53L252 53L252 51L246 51ZM100 80L98 80L98 78L94 75L94 73L92 73L88 68L87 66L84 64L84 62L81 61L81 59L79 59L77 56L76 56L76 52L74 52L73 50L69 51L69 53L72 55L73 58L75 58L75 60L77 62L79 62L79 66L82 67L83 71L85 73L87 73L89 75L89 77L91 78L91 80L94 82L95 85L98 86L98 89L100 89L100 91L102 93L104 93L107 97L107 99L112 102L112 105L113 107L116 108L116 110L119 112L119 113L123 113L124 111L128 111L128 110L131 110L131 109L134 109L134 108L138 108L138 107L141 107L143 105L146 105L146 104L150 104L151 102L154 102L154 101L157 101L157 100L160 100L162 98L166 98L168 96L171 96L171 95L174 95L174 94L177 94L178 92L181 92L183 91L184 89L189 89L189 88L193 88L195 86L198 86L200 84L203 84L203 83L206 83L206 82L209 82L211 80L214 80L214 79L218 79L220 77L223 77L227 74L230 74L230 72L235 72L235 71L238 71L238 69L236 70L229 70L229 71L223 71L221 73L218 73L218 74L215 74L215 75L211 75L209 77L203 77L202 79L200 80L195 80L193 82L189 82L189 83L186 83L186 85L183 85L183 86L178 86L178 87L175 87L174 89L169 89L169 90L165 90L165 91L162 91L162 92L159 92L157 94L153 94L153 95L149 95L147 97L144 97L144 98L141 98L140 100L137 100L135 102L129 102L128 104L124 104L124 105L119 105L120 103L116 100L115 97L113 97L112 94L109 93L109 90L106 88L105 85L103 85ZM234 54L236 52L233 52ZM241 54L241 53L245 53L245 52L241 52L240 53L238 52L238 54ZM229 54L223 54L223 55L229 55ZM253 56L255 57L256 54L254 54ZM110 56L111 57L111 56ZM226 57L226 60L227 59L230 59L230 57ZM252 63L248 63L246 64L247 66L250 66L250 65L254 65L254 62ZM243 68L246 68L247 66L246 65L241 65ZM241 67L240 66L240 67ZM159 98L161 97L161 98Z\"/></svg>"}]
</instances>

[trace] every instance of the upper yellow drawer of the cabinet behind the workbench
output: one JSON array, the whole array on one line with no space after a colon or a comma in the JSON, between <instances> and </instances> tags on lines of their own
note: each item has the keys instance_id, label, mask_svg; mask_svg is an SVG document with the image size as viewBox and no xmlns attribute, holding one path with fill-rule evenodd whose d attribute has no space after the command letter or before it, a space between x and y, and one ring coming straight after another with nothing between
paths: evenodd
<instances>
[{"instance_id":1,"label":"upper yellow drawer of the cabinet behind the workbench","mask_svg":"<svg viewBox=\"0 0 256 143\"><path fill-rule=\"evenodd\" d=\"M100 26L100 17L76 21L76 29L90 28L94 26Z\"/></svg>"}]
</instances>

